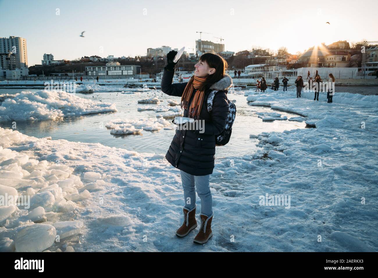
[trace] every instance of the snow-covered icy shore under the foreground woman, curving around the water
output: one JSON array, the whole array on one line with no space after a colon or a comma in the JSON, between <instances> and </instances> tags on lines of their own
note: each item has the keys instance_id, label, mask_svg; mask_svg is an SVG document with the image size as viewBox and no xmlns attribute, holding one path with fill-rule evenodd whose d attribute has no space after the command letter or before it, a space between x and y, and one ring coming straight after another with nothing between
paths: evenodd
<instances>
[{"instance_id":1,"label":"snow-covered icy shore under the foreground woman, curving around the water","mask_svg":"<svg viewBox=\"0 0 378 278\"><path fill-rule=\"evenodd\" d=\"M7 192L15 189L25 194L32 188L35 194L49 191L57 199L74 203L72 210L61 212L55 202L36 199L45 210L44 222L41 208L33 213L23 210L23 221L15 220L19 217L16 210L3 208L3 215L8 215L3 221L9 223L0 222L0 250L3 246L29 248L25 242L34 239L38 244L33 248L38 251L378 251L377 108L364 105L364 99L350 104L334 97L333 104L327 104L313 101L305 93L302 98L282 91L255 96L251 104L268 103L272 108L293 111L317 128L251 134L251 144L260 146L258 152L215 160L210 179L214 236L203 246L192 243L195 232L181 239L175 236L183 221L183 193L180 172L169 165L165 154L37 139L0 128L0 146L4 148L0 172L8 171L2 172L7 180L4 186L11 187ZM370 103L375 101L370 99ZM28 160L23 155L28 155ZM30 168L31 159L46 162L35 162L43 165L42 169ZM17 165L12 168L9 163ZM63 187L60 179L51 178L58 186L45 188L46 180L52 185L48 171L53 169L65 172L57 176ZM22 170L28 171L32 175L28 180L36 184L23 181L23 187L12 186L8 180L28 174ZM72 175L77 178L63 190ZM66 199L63 192L67 190L68 196L78 195ZM83 192L87 199L80 199ZM266 194L290 196L290 208L261 205L261 196ZM197 206L199 214L199 198ZM59 224L65 221L72 223ZM52 227L33 226L45 224L67 235L64 244L51 241Z\"/></svg>"}]
</instances>

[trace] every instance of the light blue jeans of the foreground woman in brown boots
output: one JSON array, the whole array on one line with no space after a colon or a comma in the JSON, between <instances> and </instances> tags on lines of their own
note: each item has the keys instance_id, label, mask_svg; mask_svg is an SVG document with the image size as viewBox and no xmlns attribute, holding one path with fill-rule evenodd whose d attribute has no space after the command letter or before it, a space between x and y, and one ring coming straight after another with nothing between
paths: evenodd
<instances>
[{"instance_id":1,"label":"light blue jeans of the foreground woman in brown boots","mask_svg":"<svg viewBox=\"0 0 378 278\"><path fill-rule=\"evenodd\" d=\"M184 189L184 207L188 210L195 207L195 189L197 189L198 197L201 199L201 213L211 216L210 175L191 175L182 170L180 170L180 173Z\"/></svg>"}]
</instances>

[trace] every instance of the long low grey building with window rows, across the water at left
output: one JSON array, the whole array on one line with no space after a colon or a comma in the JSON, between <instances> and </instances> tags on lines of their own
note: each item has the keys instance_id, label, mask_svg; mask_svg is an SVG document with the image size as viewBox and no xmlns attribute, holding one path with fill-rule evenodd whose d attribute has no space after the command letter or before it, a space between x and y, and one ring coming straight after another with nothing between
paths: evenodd
<instances>
[{"instance_id":1,"label":"long low grey building with window rows, across the water at left","mask_svg":"<svg viewBox=\"0 0 378 278\"><path fill-rule=\"evenodd\" d=\"M85 75L102 76L102 75L122 75L124 78L132 78L140 72L138 65L120 65L119 62L110 62L105 66L88 66L85 67Z\"/></svg>"}]
</instances>

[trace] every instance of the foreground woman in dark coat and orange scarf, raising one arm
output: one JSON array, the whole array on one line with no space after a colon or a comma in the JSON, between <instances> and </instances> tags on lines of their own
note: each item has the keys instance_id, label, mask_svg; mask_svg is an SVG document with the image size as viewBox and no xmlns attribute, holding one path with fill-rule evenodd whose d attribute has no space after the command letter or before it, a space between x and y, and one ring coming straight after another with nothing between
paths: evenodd
<instances>
[{"instance_id":1,"label":"foreground woman in dark coat and orange scarf, raising one arm","mask_svg":"<svg viewBox=\"0 0 378 278\"><path fill-rule=\"evenodd\" d=\"M214 169L215 137L226 125L229 105L228 88L232 78L225 73L227 62L219 55L205 53L195 64L195 74L189 82L173 83L177 51L167 54L167 65L163 70L161 90L169 96L181 97L184 117L203 123L202 130L176 129L174 138L166 154L168 162L180 169L184 189L184 223L176 231L177 236L186 236L197 227L195 219L195 189L201 199L201 228L194 242L203 244L212 236L212 197L209 187L210 174ZM211 113L207 109L209 94L217 91Z\"/></svg>"}]
</instances>

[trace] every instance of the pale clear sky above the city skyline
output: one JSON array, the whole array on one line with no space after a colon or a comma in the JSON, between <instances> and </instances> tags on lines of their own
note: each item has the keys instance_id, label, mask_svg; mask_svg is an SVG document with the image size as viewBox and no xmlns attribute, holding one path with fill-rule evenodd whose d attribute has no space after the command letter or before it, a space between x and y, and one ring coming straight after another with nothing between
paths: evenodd
<instances>
[{"instance_id":1,"label":"pale clear sky above the city skyline","mask_svg":"<svg viewBox=\"0 0 378 278\"><path fill-rule=\"evenodd\" d=\"M26 39L28 64L82 56L145 56L167 45L192 52L196 32L235 53L253 47L295 54L322 42L378 40L378 1L0 0L0 37ZM330 22L326 24L325 22ZM85 31L85 37L79 37ZM206 34L211 33L211 34Z\"/></svg>"}]
</instances>

